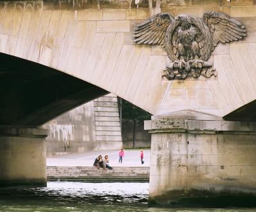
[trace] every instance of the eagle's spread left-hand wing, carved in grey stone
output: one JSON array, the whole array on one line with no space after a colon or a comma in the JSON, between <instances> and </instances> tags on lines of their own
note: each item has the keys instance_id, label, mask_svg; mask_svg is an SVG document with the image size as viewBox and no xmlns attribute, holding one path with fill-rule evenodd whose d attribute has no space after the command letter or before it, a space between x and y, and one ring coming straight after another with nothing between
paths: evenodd
<instances>
[{"instance_id":1,"label":"eagle's spread left-hand wing, carved in grey stone","mask_svg":"<svg viewBox=\"0 0 256 212\"><path fill-rule=\"evenodd\" d=\"M169 13L159 13L134 28L134 42L164 45L165 34L174 18Z\"/></svg>"}]
</instances>

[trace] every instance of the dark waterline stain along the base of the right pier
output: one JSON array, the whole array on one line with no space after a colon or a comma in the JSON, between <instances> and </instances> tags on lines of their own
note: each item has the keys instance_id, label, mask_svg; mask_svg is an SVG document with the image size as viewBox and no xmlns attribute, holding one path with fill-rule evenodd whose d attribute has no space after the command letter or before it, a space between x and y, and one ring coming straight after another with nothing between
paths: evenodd
<instances>
[{"instance_id":1,"label":"dark waterline stain along the base of the right pier","mask_svg":"<svg viewBox=\"0 0 256 212\"><path fill-rule=\"evenodd\" d=\"M148 206L174 208L252 208L256 207L253 193L214 190L172 190L157 197L149 197Z\"/></svg>"}]
</instances>

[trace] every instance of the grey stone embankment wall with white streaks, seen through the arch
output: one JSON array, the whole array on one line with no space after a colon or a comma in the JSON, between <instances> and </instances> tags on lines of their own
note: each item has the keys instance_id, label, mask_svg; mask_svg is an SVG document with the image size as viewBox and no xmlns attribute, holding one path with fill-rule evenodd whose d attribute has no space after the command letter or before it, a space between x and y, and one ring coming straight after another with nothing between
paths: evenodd
<instances>
[{"instance_id":1,"label":"grey stone embankment wall with white streaks, seen through the arch","mask_svg":"<svg viewBox=\"0 0 256 212\"><path fill-rule=\"evenodd\" d=\"M115 95L86 103L44 125L50 130L47 155L122 147Z\"/></svg>"}]
</instances>

